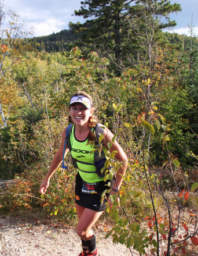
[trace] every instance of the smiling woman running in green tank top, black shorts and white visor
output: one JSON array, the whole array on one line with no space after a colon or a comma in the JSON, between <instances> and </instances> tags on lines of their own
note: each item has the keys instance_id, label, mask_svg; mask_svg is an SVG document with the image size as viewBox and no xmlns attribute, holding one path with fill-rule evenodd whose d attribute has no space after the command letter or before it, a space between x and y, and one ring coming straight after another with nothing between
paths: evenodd
<instances>
[{"instance_id":1,"label":"smiling woman running in green tank top, black shorts and white visor","mask_svg":"<svg viewBox=\"0 0 198 256\"><path fill-rule=\"evenodd\" d=\"M96 116L93 115L92 98L89 94L78 91L69 102L69 122L73 124L69 142L71 143L71 155L75 161L78 173L75 182L75 207L79 222L76 227L76 233L82 242L82 252L79 256L99 256L96 248L96 236L91 230L94 223L101 216L108 204L111 204L109 195L117 194L122 184L122 176L127 169L127 157L122 147L117 141L112 143L113 134L107 128L103 129L104 139L102 143L107 148L108 143L112 143L110 151L117 151L115 158L122 162L115 179L104 182L104 177L98 176L96 165L94 163L93 144L87 144L89 141L97 140L94 130L98 125ZM41 194L45 194L50 183L50 178L63 162L63 154L66 157L69 147L65 147L67 127L63 131L62 141L59 150L54 155L50 165L49 172L41 183ZM82 160L83 159L83 160ZM72 161L73 162L73 161ZM111 182L111 191L106 194L106 199L101 204L101 194L109 189L108 183ZM119 198L117 198L119 200Z\"/></svg>"}]
</instances>

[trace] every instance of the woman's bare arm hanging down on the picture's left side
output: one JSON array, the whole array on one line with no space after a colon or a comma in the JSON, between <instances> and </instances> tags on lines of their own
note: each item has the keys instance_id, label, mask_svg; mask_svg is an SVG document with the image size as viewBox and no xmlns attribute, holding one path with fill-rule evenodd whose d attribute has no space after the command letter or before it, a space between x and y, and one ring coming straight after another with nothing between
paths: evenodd
<instances>
[{"instance_id":1,"label":"woman's bare arm hanging down on the picture's left side","mask_svg":"<svg viewBox=\"0 0 198 256\"><path fill-rule=\"evenodd\" d=\"M54 158L53 158L52 163L50 165L49 172L47 172L47 175L46 175L45 179L41 183L40 192L41 192L42 195L45 194L45 192L47 190L47 187L49 187L49 182L50 182L51 177L53 176L54 172L56 172L58 167L61 165L61 162L63 161L63 151L64 151L64 144L65 144L65 137L66 137L65 130L66 130L66 128L64 129L63 134L62 134L60 148L56 152L56 154L54 155ZM69 151L69 149L66 145L64 157L66 157L68 151Z\"/></svg>"}]
</instances>

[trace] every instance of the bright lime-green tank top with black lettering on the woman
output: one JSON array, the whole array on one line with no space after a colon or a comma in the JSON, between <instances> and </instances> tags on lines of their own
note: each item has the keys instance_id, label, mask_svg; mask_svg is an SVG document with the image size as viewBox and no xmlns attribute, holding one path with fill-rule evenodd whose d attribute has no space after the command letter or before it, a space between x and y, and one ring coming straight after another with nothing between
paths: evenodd
<instances>
[{"instance_id":1,"label":"bright lime-green tank top with black lettering on the woman","mask_svg":"<svg viewBox=\"0 0 198 256\"><path fill-rule=\"evenodd\" d=\"M91 153L94 150L94 146L88 144L88 138L85 141L79 141L76 139L75 134L75 125L72 127L70 142L71 142L71 155L77 161L86 162L80 163L76 162L78 165L78 171L80 176L82 177L85 182L88 183L96 183L103 178L98 177L96 173L96 166L94 165L94 153ZM90 154L91 153L91 154ZM91 164L90 164L91 163Z\"/></svg>"}]
</instances>

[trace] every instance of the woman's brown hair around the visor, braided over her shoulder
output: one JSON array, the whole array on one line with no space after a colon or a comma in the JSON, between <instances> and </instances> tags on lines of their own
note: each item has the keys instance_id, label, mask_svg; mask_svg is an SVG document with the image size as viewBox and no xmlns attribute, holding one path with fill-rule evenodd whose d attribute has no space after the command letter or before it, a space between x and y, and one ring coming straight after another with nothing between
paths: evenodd
<instances>
[{"instance_id":1,"label":"woman's brown hair around the visor, braided over her shoulder","mask_svg":"<svg viewBox=\"0 0 198 256\"><path fill-rule=\"evenodd\" d=\"M77 95L85 96L85 97L89 98L89 99L91 100L91 102L93 101L91 95L85 93L85 91L77 91L75 94L72 95L72 97L77 96ZM71 97L71 98L72 98L72 97ZM70 99L71 99L71 98L70 98ZM70 106L69 106L69 109L70 109ZM93 107L91 107L91 109L94 110ZM68 121L69 121L69 123L74 123L74 122L72 121L70 115L69 115L69 117L68 117ZM97 116L95 116L95 115L92 114L92 115L90 116L90 118L89 118L89 127L90 127L90 131L89 131L89 134L88 134L88 141L95 141L95 140L96 140L96 137L95 137L95 135L94 135L94 133L93 133L92 130L93 130L93 127L96 127L97 123L98 123L98 118L97 118Z\"/></svg>"}]
</instances>

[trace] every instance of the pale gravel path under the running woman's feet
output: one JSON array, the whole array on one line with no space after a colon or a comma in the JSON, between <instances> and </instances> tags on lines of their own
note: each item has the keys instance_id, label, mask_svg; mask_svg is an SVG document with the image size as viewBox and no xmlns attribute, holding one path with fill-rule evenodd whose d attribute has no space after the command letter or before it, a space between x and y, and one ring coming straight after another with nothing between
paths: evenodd
<instances>
[{"instance_id":1,"label":"pale gravel path under the running woman's feet","mask_svg":"<svg viewBox=\"0 0 198 256\"><path fill-rule=\"evenodd\" d=\"M101 256L131 256L122 244L105 239L105 231L94 231ZM0 216L0 255L2 256L77 256L81 251L75 227L54 225L49 221L25 221ZM133 253L134 256L139 255Z\"/></svg>"}]
</instances>

